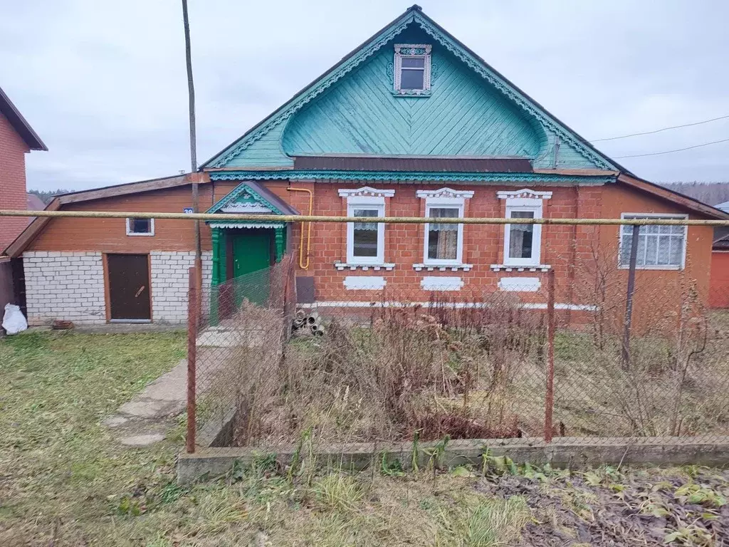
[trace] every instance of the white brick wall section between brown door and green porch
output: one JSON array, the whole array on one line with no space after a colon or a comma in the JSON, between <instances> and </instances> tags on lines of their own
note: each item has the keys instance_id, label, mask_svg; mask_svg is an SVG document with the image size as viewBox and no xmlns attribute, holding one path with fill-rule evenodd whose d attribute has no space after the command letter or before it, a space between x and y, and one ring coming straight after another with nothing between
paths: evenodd
<instances>
[{"instance_id":1,"label":"white brick wall section between brown door and green porch","mask_svg":"<svg viewBox=\"0 0 729 547\"><path fill-rule=\"evenodd\" d=\"M152 319L157 323L187 322L188 269L195 252L152 251ZM208 307L213 271L212 252L203 252L203 314Z\"/></svg>"}]
</instances>

